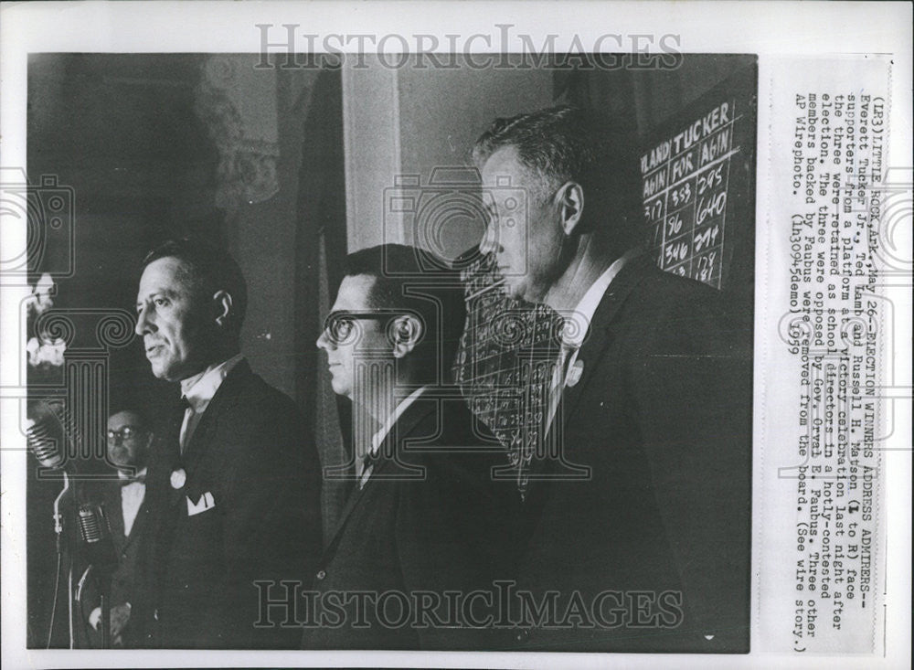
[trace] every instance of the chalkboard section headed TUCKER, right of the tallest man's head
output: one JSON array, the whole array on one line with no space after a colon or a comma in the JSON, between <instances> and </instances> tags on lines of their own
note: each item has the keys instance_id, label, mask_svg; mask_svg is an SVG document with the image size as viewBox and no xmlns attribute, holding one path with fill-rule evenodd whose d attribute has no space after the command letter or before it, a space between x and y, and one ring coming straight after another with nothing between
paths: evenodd
<instances>
[{"instance_id":1,"label":"chalkboard section headed TUCKER, right of the tallest man's head","mask_svg":"<svg viewBox=\"0 0 914 670\"><path fill-rule=\"evenodd\" d=\"M657 265L716 289L755 229L756 80L754 64L739 70L651 133L639 160Z\"/></svg>"}]
</instances>

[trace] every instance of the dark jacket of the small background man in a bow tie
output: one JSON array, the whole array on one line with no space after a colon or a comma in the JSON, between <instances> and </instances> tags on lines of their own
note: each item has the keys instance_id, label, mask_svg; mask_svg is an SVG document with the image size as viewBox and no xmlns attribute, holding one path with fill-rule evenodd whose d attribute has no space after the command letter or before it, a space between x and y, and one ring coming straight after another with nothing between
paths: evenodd
<instances>
[{"instance_id":1,"label":"dark jacket of the small background man in a bow tie","mask_svg":"<svg viewBox=\"0 0 914 670\"><path fill-rule=\"evenodd\" d=\"M112 546L117 558L117 566L111 573L109 591L111 606L114 607L130 602L131 607L133 607L136 601L137 571L148 544L149 505L146 504L146 498L143 496L143 504L140 505L136 518L133 520L130 535L125 536L123 532L121 483L117 480L106 480L97 484L90 495L90 499L98 501L101 505L102 513L108 522L108 527L111 529ZM94 587L94 580L90 580L87 583L86 590L83 591L84 595L80 598L83 617L87 622L92 610L101 605L101 595ZM122 632L122 640L126 646L130 646L135 642L132 630L133 622L131 621L128 622L127 627ZM95 634L90 635L90 638L92 645L101 643L101 638Z\"/></svg>"}]
</instances>

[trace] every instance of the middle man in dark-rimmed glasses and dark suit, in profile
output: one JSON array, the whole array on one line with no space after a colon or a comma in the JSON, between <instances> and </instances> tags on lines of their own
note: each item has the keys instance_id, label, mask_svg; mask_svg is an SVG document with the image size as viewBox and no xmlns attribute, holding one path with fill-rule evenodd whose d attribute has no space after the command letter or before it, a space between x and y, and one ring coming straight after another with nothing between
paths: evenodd
<instances>
[{"instance_id":1,"label":"middle man in dark-rimmed glasses and dark suit, in profile","mask_svg":"<svg viewBox=\"0 0 914 670\"><path fill-rule=\"evenodd\" d=\"M421 255L392 244L351 254L317 340L335 392L353 401L360 465L315 573L305 649L496 644L497 612L465 599L484 590L491 602L493 581L513 574L520 499L494 480L504 452L447 383L460 285L424 271Z\"/></svg>"}]
</instances>

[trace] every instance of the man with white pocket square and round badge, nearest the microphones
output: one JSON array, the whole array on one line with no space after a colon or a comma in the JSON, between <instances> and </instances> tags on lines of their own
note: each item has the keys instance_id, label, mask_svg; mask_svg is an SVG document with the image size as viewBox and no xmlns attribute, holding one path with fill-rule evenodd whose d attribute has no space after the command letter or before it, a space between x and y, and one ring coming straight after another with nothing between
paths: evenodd
<instances>
[{"instance_id":1,"label":"man with white pocket square and round badge, nearest the microphones","mask_svg":"<svg viewBox=\"0 0 914 670\"><path fill-rule=\"evenodd\" d=\"M278 626L255 626L253 582L311 571L321 548L320 468L292 400L240 353L246 303L238 265L206 243L168 241L143 261L136 334L154 376L180 383L182 399L147 478L154 535L135 612L147 645L297 642Z\"/></svg>"}]
</instances>

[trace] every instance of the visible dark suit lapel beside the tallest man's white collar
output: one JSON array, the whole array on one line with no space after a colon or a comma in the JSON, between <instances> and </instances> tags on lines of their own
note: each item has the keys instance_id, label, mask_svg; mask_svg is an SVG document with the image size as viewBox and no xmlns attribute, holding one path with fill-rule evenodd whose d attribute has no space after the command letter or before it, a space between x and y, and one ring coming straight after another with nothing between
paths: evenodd
<instances>
[{"instance_id":1,"label":"visible dark suit lapel beside the tallest man's white collar","mask_svg":"<svg viewBox=\"0 0 914 670\"><path fill-rule=\"evenodd\" d=\"M654 267L654 258L645 253L633 258L626 264L610 284L610 288L603 295L597 311L593 314L590 323L590 335L578 352L578 361L583 365L580 379L574 386L566 387L562 393L561 404L558 411L563 423L567 423L577 406L581 395L590 384L590 380L597 368L603 351L611 343L611 338L606 334L619 309L629 297L632 289L643 282L645 275Z\"/></svg>"}]
</instances>

